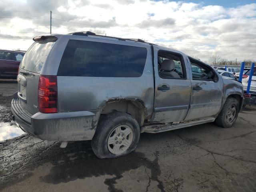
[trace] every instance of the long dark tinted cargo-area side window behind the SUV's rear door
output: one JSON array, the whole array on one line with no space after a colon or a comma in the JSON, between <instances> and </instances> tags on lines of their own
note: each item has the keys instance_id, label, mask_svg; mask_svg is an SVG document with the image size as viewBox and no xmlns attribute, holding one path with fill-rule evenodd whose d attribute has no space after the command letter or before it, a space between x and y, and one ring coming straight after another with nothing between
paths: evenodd
<instances>
[{"instance_id":1,"label":"long dark tinted cargo-area side window behind the SUV's rear door","mask_svg":"<svg viewBox=\"0 0 256 192\"><path fill-rule=\"evenodd\" d=\"M146 57L146 48L69 40L58 76L140 77Z\"/></svg>"}]
</instances>

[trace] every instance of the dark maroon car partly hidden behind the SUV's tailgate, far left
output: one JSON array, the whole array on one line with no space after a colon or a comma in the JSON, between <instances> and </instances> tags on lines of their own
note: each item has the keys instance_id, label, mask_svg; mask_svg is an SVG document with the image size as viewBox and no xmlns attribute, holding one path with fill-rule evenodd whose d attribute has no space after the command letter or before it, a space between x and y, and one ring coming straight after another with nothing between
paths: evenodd
<instances>
[{"instance_id":1,"label":"dark maroon car partly hidden behind the SUV's tailgate, far left","mask_svg":"<svg viewBox=\"0 0 256 192\"><path fill-rule=\"evenodd\" d=\"M24 52L0 50L0 78L16 79Z\"/></svg>"}]
</instances>

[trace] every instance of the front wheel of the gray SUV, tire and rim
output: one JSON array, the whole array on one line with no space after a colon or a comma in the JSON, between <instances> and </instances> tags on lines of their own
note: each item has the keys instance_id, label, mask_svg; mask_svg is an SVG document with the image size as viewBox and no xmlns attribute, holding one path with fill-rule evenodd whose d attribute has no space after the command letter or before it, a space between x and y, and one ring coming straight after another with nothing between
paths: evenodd
<instances>
[{"instance_id":1,"label":"front wheel of the gray SUV, tire and rim","mask_svg":"<svg viewBox=\"0 0 256 192\"><path fill-rule=\"evenodd\" d=\"M239 112L239 103L235 98L227 98L224 106L218 117L215 120L215 123L223 128L231 127L234 122L236 122L236 118Z\"/></svg>"}]
</instances>

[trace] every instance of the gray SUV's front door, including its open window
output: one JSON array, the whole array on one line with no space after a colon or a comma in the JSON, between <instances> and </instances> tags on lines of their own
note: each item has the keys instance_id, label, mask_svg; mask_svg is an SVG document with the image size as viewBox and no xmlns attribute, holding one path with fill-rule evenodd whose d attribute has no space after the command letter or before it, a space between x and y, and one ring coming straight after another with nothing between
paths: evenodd
<instances>
[{"instance_id":1,"label":"gray SUV's front door, including its open window","mask_svg":"<svg viewBox=\"0 0 256 192\"><path fill-rule=\"evenodd\" d=\"M210 66L192 58L187 59L192 70L192 94L185 120L214 116L222 104L223 82Z\"/></svg>"}]
</instances>

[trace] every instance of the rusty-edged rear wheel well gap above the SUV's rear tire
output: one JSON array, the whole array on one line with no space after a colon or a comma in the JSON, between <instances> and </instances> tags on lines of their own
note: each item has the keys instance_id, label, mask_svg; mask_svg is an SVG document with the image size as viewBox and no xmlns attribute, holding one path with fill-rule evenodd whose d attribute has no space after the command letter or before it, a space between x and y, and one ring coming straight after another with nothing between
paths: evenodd
<instances>
[{"instance_id":1,"label":"rusty-edged rear wheel well gap above the SUV's rear tire","mask_svg":"<svg viewBox=\"0 0 256 192\"><path fill-rule=\"evenodd\" d=\"M140 126L144 124L145 108L139 101L118 100L109 102L103 107L101 115L106 115L113 111L126 112L133 116Z\"/></svg>"}]
</instances>

